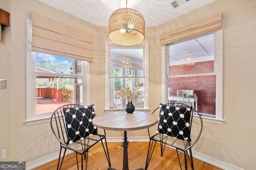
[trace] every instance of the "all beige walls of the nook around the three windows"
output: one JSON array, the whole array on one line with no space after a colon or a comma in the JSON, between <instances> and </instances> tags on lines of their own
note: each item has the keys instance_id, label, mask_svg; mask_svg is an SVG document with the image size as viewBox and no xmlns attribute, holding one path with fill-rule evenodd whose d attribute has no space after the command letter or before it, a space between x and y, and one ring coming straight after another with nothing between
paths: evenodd
<instances>
[{"instance_id":1,"label":"all beige walls of the nook around the three windows","mask_svg":"<svg viewBox=\"0 0 256 170\"><path fill-rule=\"evenodd\" d=\"M104 110L104 42L107 27L97 27L51 8L37 0L1 0L0 8L10 12L10 27L0 42L0 149L7 150L4 160L31 162L58 152L49 123L27 126L26 116L26 19L31 11L68 23L94 34L94 62L90 64L90 103L96 112ZM254 169L256 139L256 2L254 0L216 0L211 4L158 27L146 27L149 42L150 109L161 102L160 33L194 21L223 13L223 114L224 124L204 123L202 137L194 150L243 169ZM245 103L246 102L246 103ZM242 117L240 116L242 115ZM4 119L3 119L4 118ZM128 132L129 137L146 136L146 131ZM108 131L109 137L122 133Z\"/></svg>"}]
</instances>

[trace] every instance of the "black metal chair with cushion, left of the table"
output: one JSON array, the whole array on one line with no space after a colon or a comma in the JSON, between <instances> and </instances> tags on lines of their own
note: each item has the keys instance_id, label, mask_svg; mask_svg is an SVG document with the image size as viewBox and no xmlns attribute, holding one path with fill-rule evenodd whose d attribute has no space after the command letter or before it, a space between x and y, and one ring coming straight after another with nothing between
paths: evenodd
<instances>
[{"instance_id":1,"label":"black metal chair with cushion, left of the table","mask_svg":"<svg viewBox=\"0 0 256 170\"><path fill-rule=\"evenodd\" d=\"M98 134L97 128L92 125L92 119L95 116L94 105L81 106L68 104L59 107L52 113L50 125L55 137L60 141L57 170L61 169L67 149L76 152L78 170L77 154L81 155L81 169L83 170L83 159L86 159L87 169L88 150L99 141L102 143L108 165L111 166L106 141L106 132L104 130L104 135ZM103 139L105 141L105 146L102 141ZM64 154L60 162L62 148L64 149Z\"/></svg>"}]
</instances>

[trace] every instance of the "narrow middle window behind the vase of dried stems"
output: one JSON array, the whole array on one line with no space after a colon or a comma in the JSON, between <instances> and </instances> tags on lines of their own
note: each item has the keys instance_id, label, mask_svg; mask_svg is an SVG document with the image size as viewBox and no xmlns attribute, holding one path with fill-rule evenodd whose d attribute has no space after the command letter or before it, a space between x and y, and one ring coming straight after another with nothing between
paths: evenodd
<instances>
[{"instance_id":1,"label":"narrow middle window behind the vase of dried stems","mask_svg":"<svg viewBox=\"0 0 256 170\"><path fill-rule=\"evenodd\" d=\"M143 42L140 45L124 47L110 42L106 43L106 103L105 109L109 108L109 102L114 102L117 110L124 109L127 104L116 94L120 92L121 87L133 89L137 83L144 84L138 90L144 96L148 91L148 44ZM132 101L135 109L148 109L148 100L142 99L138 102ZM148 96L147 96L148 98Z\"/></svg>"}]
</instances>

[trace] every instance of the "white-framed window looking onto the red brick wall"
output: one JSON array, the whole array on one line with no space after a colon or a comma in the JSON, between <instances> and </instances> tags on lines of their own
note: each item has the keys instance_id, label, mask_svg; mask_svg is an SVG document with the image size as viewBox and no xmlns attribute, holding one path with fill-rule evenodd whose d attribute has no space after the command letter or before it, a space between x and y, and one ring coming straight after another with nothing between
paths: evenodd
<instances>
[{"instance_id":1,"label":"white-framed window looking onto the red brick wall","mask_svg":"<svg viewBox=\"0 0 256 170\"><path fill-rule=\"evenodd\" d=\"M165 52L166 94L194 90L204 120L222 123L222 30L167 45Z\"/></svg>"}]
</instances>

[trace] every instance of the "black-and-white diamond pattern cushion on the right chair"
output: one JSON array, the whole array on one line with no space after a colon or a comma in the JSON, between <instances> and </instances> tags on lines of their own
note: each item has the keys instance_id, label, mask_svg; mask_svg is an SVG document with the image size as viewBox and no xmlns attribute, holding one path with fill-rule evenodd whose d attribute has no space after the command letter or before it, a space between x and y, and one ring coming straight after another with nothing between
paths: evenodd
<instances>
[{"instance_id":1,"label":"black-and-white diamond pattern cushion on the right chair","mask_svg":"<svg viewBox=\"0 0 256 170\"><path fill-rule=\"evenodd\" d=\"M175 107L160 104L158 117L158 133L172 136L176 139L190 139L190 114L192 107Z\"/></svg>"}]
</instances>

